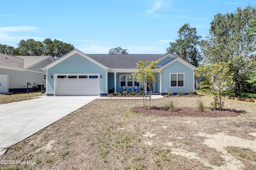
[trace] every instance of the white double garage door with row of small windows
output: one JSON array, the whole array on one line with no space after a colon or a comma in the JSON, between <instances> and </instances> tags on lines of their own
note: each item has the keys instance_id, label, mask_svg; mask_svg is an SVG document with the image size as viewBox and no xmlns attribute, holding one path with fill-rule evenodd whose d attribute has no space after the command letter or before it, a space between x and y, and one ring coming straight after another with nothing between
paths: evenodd
<instances>
[{"instance_id":1,"label":"white double garage door with row of small windows","mask_svg":"<svg viewBox=\"0 0 256 170\"><path fill-rule=\"evenodd\" d=\"M56 75L55 96L99 96L99 76L83 75Z\"/></svg>"}]
</instances>

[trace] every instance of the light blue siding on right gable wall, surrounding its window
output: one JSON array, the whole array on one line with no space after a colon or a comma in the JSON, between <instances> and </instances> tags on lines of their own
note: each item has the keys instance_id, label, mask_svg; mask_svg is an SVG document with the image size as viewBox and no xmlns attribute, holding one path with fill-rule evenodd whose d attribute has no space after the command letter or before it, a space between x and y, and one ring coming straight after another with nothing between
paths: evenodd
<instances>
[{"instance_id":1,"label":"light blue siding on right gable wall, surrounding its window","mask_svg":"<svg viewBox=\"0 0 256 170\"><path fill-rule=\"evenodd\" d=\"M189 90L193 90L194 83L193 83L193 70L188 66L176 61L172 63L170 66L167 66L162 71L162 93L167 92L186 92L188 93ZM184 73L184 87L172 87L170 88L170 73Z\"/></svg>"}]
</instances>

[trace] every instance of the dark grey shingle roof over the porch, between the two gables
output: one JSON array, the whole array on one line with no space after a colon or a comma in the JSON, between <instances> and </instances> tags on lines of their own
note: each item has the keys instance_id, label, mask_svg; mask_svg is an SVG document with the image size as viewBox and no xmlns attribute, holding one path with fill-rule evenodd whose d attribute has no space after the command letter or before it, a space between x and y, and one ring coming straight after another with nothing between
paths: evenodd
<instances>
[{"instance_id":1,"label":"dark grey shingle roof over the porch, between the two gables","mask_svg":"<svg viewBox=\"0 0 256 170\"><path fill-rule=\"evenodd\" d=\"M137 68L138 61L156 61L166 54L86 54L109 68Z\"/></svg>"}]
</instances>

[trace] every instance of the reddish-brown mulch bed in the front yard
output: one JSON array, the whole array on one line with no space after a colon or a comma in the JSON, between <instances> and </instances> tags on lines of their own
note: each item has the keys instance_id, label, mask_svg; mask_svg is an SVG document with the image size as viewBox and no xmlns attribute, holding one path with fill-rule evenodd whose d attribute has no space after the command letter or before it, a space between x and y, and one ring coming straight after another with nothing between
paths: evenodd
<instances>
[{"instance_id":1,"label":"reddish-brown mulch bed in the front yard","mask_svg":"<svg viewBox=\"0 0 256 170\"><path fill-rule=\"evenodd\" d=\"M143 113L144 115L157 116L179 116L179 117L237 117L239 113L230 110L214 110L206 109L206 111L198 111L193 107L179 107L178 111L170 112L163 110L161 107L152 106L151 109L144 109L144 107L133 107L132 111L136 113Z\"/></svg>"}]
</instances>

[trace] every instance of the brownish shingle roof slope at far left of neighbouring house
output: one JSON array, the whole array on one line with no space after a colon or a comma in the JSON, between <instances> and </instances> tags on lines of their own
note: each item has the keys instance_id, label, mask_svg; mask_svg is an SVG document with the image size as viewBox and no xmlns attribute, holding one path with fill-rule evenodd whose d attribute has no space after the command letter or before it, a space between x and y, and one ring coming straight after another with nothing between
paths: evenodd
<instances>
[{"instance_id":1,"label":"brownish shingle roof slope at far left of neighbouring house","mask_svg":"<svg viewBox=\"0 0 256 170\"><path fill-rule=\"evenodd\" d=\"M24 59L0 53L0 65L13 68L24 68Z\"/></svg>"}]
</instances>

